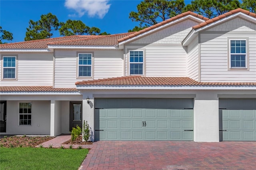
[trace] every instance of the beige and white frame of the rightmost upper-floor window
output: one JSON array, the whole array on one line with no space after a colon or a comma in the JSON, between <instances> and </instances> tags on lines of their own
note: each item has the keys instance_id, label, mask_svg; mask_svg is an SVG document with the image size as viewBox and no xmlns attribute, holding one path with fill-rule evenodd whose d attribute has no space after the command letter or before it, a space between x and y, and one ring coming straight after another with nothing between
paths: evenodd
<instances>
[{"instance_id":1,"label":"beige and white frame of the rightmost upper-floor window","mask_svg":"<svg viewBox=\"0 0 256 170\"><path fill-rule=\"evenodd\" d=\"M239 41L245 41L246 44L246 53L231 53L231 41L232 40L239 40ZM228 38L228 70L236 70L236 71L241 71L241 70L249 70L249 43L248 43L248 38ZM231 67L231 55L234 54L243 54L245 55L245 67Z\"/></svg>"}]
</instances>

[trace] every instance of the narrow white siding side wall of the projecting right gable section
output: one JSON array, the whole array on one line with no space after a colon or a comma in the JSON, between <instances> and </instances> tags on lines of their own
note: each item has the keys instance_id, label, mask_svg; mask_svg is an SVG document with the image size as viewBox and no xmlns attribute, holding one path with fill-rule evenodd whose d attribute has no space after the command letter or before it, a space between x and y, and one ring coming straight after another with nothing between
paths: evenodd
<instances>
[{"instance_id":1,"label":"narrow white siding side wall of the projecting right gable section","mask_svg":"<svg viewBox=\"0 0 256 170\"><path fill-rule=\"evenodd\" d=\"M187 75L198 81L198 36L188 45Z\"/></svg>"}]
</instances>

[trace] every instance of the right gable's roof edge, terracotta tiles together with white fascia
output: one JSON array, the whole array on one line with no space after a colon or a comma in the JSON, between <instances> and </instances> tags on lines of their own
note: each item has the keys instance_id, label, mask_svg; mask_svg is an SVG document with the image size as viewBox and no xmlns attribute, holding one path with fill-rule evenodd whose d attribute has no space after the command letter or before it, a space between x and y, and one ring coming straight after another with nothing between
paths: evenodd
<instances>
[{"instance_id":1,"label":"right gable's roof edge, terracotta tiles together with white fascia","mask_svg":"<svg viewBox=\"0 0 256 170\"><path fill-rule=\"evenodd\" d=\"M256 14L249 12L247 10L243 10L241 8L237 8L235 10L231 10L230 12L226 12L225 14L222 14L220 16L217 16L215 18L202 22L196 26L193 26L191 32L182 41L182 45L185 45L185 46L188 45L188 43L190 43L190 40L194 39L194 37L196 36L196 32L199 32L206 28L210 28L215 24L219 24L221 22L224 22L227 19L236 17L238 15L245 16L249 20L256 22Z\"/></svg>"}]
</instances>

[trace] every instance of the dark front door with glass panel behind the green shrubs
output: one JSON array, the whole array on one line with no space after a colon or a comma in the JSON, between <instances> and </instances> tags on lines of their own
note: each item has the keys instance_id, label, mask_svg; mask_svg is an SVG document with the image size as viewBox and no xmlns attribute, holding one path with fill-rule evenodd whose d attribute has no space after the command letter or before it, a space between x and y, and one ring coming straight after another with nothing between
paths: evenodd
<instances>
[{"instance_id":1,"label":"dark front door with glass panel behind the green shrubs","mask_svg":"<svg viewBox=\"0 0 256 170\"><path fill-rule=\"evenodd\" d=\"M76 125L82 130L82 102L70 102L70 132Z\"/></svg>"}]
</instances>

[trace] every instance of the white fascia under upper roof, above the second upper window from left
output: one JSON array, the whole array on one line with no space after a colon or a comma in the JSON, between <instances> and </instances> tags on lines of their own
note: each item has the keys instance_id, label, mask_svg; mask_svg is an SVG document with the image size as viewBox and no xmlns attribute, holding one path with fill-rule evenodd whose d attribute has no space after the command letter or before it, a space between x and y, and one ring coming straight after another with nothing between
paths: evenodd
<instances>
[{"instance_id":1,"label":"white fascia under upper roof, above the second upper window from left","mask_svg":"<svg viewBox=\"0 0 256 170\"><path fill-rule=\"evenodd\" d=\"M119 49L118 45L48 45L49 49Z\"/></svg>"}]
</instances>

